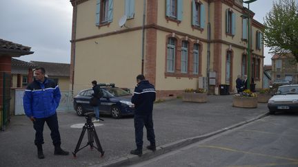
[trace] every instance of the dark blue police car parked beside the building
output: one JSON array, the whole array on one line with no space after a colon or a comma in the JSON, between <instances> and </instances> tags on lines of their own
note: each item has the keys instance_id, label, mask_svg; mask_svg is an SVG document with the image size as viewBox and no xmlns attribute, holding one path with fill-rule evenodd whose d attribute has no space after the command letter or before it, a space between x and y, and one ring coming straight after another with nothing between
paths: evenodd
<instances>
[{"instance_id":1,"label":"dark blue police car parked beside the building","mask_svg":"<svg viewBox=\"0 0 298 167\"><path fill-rule=\"evenodd\" d=\"M131 102L132 95L128 91L124 91L115 84L99 84L103 90L103 97L100 99L99 113L112 115L112 118L121 118L124 115L133 115L135 105ZM90 105L90 98L93 90L85 89L74 97L74 110L77 115L83 115L86 112L93 111Z\"/></svg>"}]
</instances>

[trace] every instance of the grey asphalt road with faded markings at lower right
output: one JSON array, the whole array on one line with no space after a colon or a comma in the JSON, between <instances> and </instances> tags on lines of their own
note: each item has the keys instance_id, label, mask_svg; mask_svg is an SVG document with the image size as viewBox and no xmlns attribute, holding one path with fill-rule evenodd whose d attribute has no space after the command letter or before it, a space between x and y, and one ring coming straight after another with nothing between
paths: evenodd
<instances>
[{"instance_id":1,"label":"grey asphalt road with faded markings at lower right","mask_svg":"<svg viewBox=\"0 0 298 167\"><path fill-rule=\"evenodd\" d=\"M270 115L135 166L298 166L298 113Z\"/></svg>"}]
</instances>

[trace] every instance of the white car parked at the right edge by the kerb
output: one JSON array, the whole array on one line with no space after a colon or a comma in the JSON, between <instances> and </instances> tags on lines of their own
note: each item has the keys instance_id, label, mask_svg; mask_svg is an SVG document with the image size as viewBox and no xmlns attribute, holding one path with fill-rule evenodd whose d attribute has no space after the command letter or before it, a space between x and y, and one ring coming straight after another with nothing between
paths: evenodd
<instances>
[{"instance_id":1,"label":"white car parked at the right edge by the kerb","mask_svg":"<svg viewBox=\"0 0 298 167\"><path fill-rule=\"evenodd\" d=\"M283 85L277 89L275 96L268 100L271 114L276 111L298 111L298 85Z\"/></svg>"}]
</instances>

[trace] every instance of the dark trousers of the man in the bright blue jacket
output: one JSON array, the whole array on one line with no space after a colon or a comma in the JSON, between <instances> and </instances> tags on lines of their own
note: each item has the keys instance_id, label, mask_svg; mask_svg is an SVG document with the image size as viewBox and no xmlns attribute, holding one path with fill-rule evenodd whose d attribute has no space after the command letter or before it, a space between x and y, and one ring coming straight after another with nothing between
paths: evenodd
<instances>
[{"instance_id":1,"label":"dark trousers of the man in the bright blue jacket","mask_svg":"<svg viewBox=\"0 0 298 167\"><path fill-rule=\"evenodd\" d=\"M59 133L57 113L51 115L48 118L35 118L35 121L33 122L33 127L36 131L34 144L43 144L43 126L45 122L48 124L48 127L51 131L50 136L52 137L52 144L54 144L54 146L60 146L61 138Z\"/></svg>"}]
</instances>

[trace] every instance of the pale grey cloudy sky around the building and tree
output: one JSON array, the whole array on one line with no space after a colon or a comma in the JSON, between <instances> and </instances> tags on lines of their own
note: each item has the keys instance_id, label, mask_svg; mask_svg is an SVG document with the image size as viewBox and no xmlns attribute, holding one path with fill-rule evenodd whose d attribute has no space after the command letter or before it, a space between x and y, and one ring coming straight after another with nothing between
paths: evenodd
<instances>
[{"instance_id":1,"label":"pale grey cloudy sky around the building and tree","mask_svg":"<svg viewBox=\"0 0 298 167\"><path fill-rule=\"evenodd\" d=\"M257 21L264 23L272 2L258 0L250 4ZM32 47L34 54L19 59L70 63L72 5L69 0L0 0L0 23L0 38ZM264 64L271 64L268 48L264 56Z\"/></svg>"}]
</instances>

